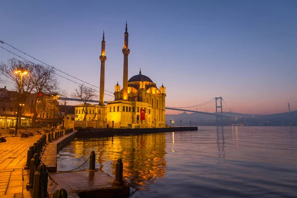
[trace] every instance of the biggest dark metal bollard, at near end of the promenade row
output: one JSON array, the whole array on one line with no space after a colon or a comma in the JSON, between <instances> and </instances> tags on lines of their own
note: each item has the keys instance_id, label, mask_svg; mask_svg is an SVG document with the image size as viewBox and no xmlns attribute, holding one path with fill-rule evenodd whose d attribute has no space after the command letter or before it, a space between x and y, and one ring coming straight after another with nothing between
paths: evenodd
<instances>
[{"instance_id":1,"label":"biggest dark metal bollard, at near end of the promenade row","mask_svg":"<svg viewBox=\"0 0 297 198\"><path fill-rule=\"evenodd\" d=\"M38 166L34 174L33 198L47 198L49 172L45 165Z\"/></svg>"}]
</instances>

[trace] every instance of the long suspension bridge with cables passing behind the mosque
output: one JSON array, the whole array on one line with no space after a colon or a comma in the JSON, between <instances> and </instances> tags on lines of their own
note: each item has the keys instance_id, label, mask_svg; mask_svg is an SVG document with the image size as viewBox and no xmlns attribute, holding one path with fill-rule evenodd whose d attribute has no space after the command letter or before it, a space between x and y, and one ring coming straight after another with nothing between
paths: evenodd
<instances>
[{"instance_id":1,"label":"long suspension bridge with cables passing behind the mosque","mask_svg":"<svg viewBox=\"0 0 297 198\"><path fill-rule=\"evenodd\" d=\"M87 88L90 88L90 89L93 89L94 91L96 92L99 92L99 87L98 86L95 86L95 85L92 85L86 81L83 81L81 79L78 79L66 72L63 72L59 69L56 69L55 67L25 53L24 51L21 51L20 49L17 49L3 41L0 40L0 43L2 44L2 47L0 46L0 49L2 49L2 52L3 50L7 51L9 54L13 54L13 56L16 56L16 57L19 57L25 61L28 61L28 62L31 62L32 64L35 64L35 61L38 61L40 63L42 63L43 65L46 65L52 69L54 69L56 72L54 72L54 74L60 78L63 78L67 81L70 81L70 82L73 82L77 85L81 85L81 86L85 86ZM8 48L11 48L10 50L9 49L6 49L4 48L4 45L6 45ZM28 58L25 58L19 54L17 54L15 51L21 53L22 55L24 56L28 56ZM30 61L29 58L31 58L34 62ZM46 69L46 68L45 68ZM78 81L78 82L77 82ZM95 88L98 88L98 89L95 89ZM110 91L107 91L107 90L104 90L104 95L107 95L107 96L110 96L110 97L114 97L112 96L111 94L113 94L112 92ZM59 98L59 100L68 100L68 101L81 101L80 99L74 99L74 98ZM93 102L93 103L99 103L99 100L88 100L89 102ZM215 102L215 109L216 109L216 112L215 113L210 113L210 112L206 112L206 111L199 111L198 108L201 108L202 106L205 106L206 104L210 104L212 102ZM223 102L224 102L224 105L223 105ZM107 103L107 101L104 101L104 103ZM228 108L226 109L225 106ZM165 109L168 109L168 110L176 110L176 111L184 111L184 112L192 112L192 113L202 113L202 114L208 114L208 115L213 115L213 116L216 116L216 120L218 121L218 118L221 118L223 119L223 117L226 117L226 118L231 118L233 116L230 116L230 115L224 115L223 114L223 109L225 112L231 112L231 109L228 107L228 105L226 104L226 102L224 101L224 99L222 97L215 97L213 99L210 99L208 101L205 101L205 102L202 102L200 104L197 104L197 105L192 105L192 106L186 106L186 107L172 107L172 106L165 106Z\"/></svg>"}]
</instances>

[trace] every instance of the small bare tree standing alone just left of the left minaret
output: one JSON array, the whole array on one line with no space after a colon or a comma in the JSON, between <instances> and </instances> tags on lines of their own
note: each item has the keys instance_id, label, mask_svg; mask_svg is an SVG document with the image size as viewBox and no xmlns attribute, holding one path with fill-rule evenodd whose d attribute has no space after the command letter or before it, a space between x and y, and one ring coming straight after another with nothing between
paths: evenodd
<instances>
[{"instance_id":1,"label":"small bare tree standing alone just left of the left minaret","mask_svg":"<svg viewBox=\"0 0 297 198\"><path fill-rule=\"evenodd\" d=\"M71 94L72 98L80 99L84 103L83 112L85 114L84 120L86 120L88 114L88 105L87 102L91 99L94 99L96 96L95 89L86 87L84 84L80 85L78 89L75 89Z\"/></svg>"}]
</instances>

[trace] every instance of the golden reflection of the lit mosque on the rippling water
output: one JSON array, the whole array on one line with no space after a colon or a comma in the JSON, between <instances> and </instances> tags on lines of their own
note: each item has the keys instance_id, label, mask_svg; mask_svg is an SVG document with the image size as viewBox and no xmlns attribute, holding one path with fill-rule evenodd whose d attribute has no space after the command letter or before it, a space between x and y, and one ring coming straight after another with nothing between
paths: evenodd
<instances>
[{"instance_id":1,"label":"golden reflection of the lit mosque on the rippling water","mask_svg":"<svg viewBox=\"0 0 297 198\"><path fill-rule=\"evenodd\" d=\"M156 182L165 175L165 143L165 133L105 137L76 140L72 152L76 157L82 157L95 150L97 168L104 172L107 169L107 172L113 175L115 175L116 160L122 158L123 178L143 186ZM174 144L174 134L172 144ZM172 151L174 152L173 148Z\"/></svg>"}]
</instances>

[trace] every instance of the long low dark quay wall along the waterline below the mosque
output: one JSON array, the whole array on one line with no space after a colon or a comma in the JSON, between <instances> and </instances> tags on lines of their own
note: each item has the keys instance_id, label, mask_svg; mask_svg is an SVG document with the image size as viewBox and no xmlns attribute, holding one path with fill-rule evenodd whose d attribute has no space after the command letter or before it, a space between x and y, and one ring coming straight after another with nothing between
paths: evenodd
<instances>
[{"instance_id":1,"label":"long low dark quay wall along the waterline below the mosque","mask_svg":"<svg viewBox=\"0 0 297 198\"><path fill-rule=\"evenodd\" d=\"M177 131L197 131L198 127L166 127L166 128L136 128L136 129L78 129L76 137L96 137L100 135L129 135L145 133L162 133Z\"/></svg>"}]
</instances>

